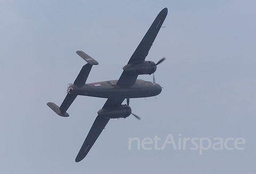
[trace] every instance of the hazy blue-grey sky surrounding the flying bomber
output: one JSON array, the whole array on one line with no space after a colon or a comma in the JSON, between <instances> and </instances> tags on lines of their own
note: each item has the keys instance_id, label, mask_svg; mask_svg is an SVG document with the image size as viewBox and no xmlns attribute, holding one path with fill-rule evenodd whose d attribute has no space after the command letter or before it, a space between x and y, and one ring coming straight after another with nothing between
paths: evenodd
<instances>
[{"instance_id":1,"label":"hazy blue-grey sky surrounding the flying bomber","mask_svg":"<svg viewBox=\"0 0 256 174\"><path fill-rule=\"evenodd\" d=\"M146 57L166 57L155 72L162 93L131 99L141 121L110 120L76 163L106 99L78 96L68 118L46 103L60 105L86 63L77 50L99 62L87 82L118 79L164 7L165 28ZM1 172L255 173L255 9L255 1L0 0ZM129 138L137 138L130 150Z\"/></svg>"}]
</instances>

